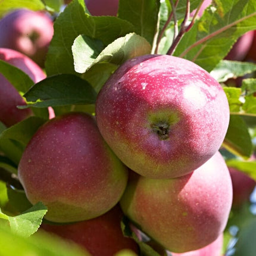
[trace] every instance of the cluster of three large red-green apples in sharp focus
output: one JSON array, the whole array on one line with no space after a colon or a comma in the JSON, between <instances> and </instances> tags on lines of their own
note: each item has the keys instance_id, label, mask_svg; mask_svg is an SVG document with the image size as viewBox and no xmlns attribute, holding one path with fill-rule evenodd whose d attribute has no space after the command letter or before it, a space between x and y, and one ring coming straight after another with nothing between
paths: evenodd
<instances>
[{"instance_id":1,"label":"cluster of three large red-green apples in sharp focus","mask_svg":"<svg viewBox=\"0 0 256 256\"><path fill-rule=\"evenodd\" d=\"M232 205L218 152L228 124L226 95L210 74L181 58L143 55L101 89L96 118L67 113L43 124L18 177L29 201L48 207L45 219L61 223L47 230L67 237L74 232L65 228L82 229L120 207L168 251L194 251L221 236Z\"/></svg>"}]
</instances>

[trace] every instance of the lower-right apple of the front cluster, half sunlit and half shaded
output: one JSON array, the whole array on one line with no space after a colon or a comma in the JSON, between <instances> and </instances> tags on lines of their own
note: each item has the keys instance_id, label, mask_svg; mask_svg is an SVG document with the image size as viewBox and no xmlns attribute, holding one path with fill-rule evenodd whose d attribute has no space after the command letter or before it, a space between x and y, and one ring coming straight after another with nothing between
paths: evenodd
<instances>
[{"instance_id":1,"label":"lower-right apple of the front cluster, half sunlit and half shaded","mask_svg":"<svg viewBox=\"0 0 256 256\"><path fill-rule=\"evenodd\" d=\"M232 206L229 170L217 152L176 179L149 179L131 171L120 205L138 229L168 251L195 251L226 227Z\"/></svg>"}]
</instances>

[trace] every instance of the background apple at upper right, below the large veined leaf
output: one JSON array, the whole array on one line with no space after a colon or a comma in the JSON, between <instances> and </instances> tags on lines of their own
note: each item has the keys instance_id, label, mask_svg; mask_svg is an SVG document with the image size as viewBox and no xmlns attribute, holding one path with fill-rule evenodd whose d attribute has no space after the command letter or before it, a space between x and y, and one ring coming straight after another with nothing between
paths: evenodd
<instances>
[{"instance_id":1,"label":"background apple at upper right, below the large veined leaf","mask_svg":"<svg viewBox=\"0 0 256 256\"><path fill-rule=\"evenodd\" d=\"M225 60L243 61L252 45L253 38L252 30L243 34L232 46Z\"/></svg>"}]
</instances>

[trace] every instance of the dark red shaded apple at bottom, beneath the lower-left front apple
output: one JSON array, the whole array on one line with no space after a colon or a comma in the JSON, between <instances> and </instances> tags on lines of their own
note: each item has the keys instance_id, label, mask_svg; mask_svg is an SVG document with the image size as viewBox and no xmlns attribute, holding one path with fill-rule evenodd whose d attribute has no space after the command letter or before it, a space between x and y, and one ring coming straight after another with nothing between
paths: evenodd
<instances>
[{"instance_id":1,"label":"dark red shaded apple at bottom, beneath the lower-left front apple","mask_svg":"<svg viewBox=\"0 0 256 256\"><path fill-rule=\"evenodd\" d=\"M78 243L91 255L113 256L121 249L139 254L138 244L124 237L121 220L124 214L117 204L99 217L68 224L43 223L40 229Z\"/></svg>"}]
</instances>

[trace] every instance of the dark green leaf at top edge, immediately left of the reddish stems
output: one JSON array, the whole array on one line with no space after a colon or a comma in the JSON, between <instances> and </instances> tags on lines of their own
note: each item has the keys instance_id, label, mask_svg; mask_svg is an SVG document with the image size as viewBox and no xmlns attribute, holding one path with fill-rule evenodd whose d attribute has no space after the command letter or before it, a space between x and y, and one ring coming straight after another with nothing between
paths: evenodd
<instances>
[{"instance_id":1,"label":"dark green leaf at top edge, immediately left of the reddish stems","mask_svg":"<svg viewBox=\"0 0 256 256\"><path fill-rule=\"evenodd\" d=\"M158 23L159 0L120 0L118 17L129 21L135 33L152 45Z\"/></svg>"}]
</instances>

